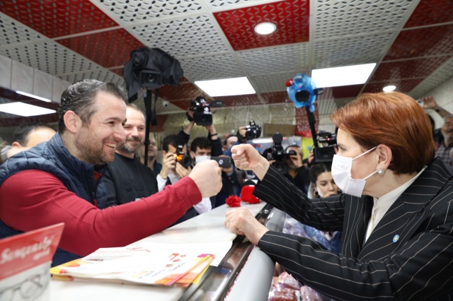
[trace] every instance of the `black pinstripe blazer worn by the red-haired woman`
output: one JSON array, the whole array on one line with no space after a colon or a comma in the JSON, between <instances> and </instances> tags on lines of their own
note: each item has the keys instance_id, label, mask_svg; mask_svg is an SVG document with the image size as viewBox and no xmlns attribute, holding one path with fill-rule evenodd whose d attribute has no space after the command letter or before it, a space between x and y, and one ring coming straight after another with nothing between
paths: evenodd
<instances>
[{"instance_id":1,"label":"black pinstripe blazer worn by the red-haired woman","mask_svg":"<svg viewBox=\"0 0 453 301\"><path fill-rule=\"evenodd\" d=\"M258 247L288 273L335 300L453 299L453 182L436 158L401 194L364 244L370 196L307 199L270 167L254 194L302 223L342 230L341 254L269 231Z\"/></svg>"}]
</instances>

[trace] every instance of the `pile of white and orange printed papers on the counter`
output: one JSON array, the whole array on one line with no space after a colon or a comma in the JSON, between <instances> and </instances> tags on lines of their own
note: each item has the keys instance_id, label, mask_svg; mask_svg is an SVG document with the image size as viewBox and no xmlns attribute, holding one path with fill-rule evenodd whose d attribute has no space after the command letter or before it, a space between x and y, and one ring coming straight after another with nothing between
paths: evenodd
<instances>
[{"instance_id":1,"label":"pile of white and orange printed papers on the counter","mask_svg":"<svg viewBox=\"0 0 453 301\"><path fill-rule=\"evenodd\" d=\"M213 254L170 251L151 245L102 248L50 269L58 280L188 286L210 265Z\"/></svg>"}]
</instances>

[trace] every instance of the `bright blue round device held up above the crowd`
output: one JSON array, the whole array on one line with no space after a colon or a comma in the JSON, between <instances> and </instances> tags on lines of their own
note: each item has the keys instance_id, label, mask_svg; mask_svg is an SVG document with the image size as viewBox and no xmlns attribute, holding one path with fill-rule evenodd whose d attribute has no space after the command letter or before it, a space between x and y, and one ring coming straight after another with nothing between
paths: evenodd
<instances>
[{"instance_id":1,"label":"bright blue round device held up above the crowd","mask_svg":"<svg viewBox=\"0 0 453 301\"><path fill-rule=\"evenodd\" d=\"M294 105L299 109L301 107L309 107L310 112L314 112L314 101L316 95L323 93L323 89L316 88L314 81L310 76L302 73L297 73L294 78L286 82L289 99L294 102Z\"/></svg>"}]
</instances>

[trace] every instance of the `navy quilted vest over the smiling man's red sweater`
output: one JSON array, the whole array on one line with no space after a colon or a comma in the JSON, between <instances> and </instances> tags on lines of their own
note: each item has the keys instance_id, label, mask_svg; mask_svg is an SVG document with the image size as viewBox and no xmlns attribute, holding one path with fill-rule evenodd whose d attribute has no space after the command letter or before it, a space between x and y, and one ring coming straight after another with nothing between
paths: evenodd
<instances>
[{"instance_id":1,"label":"navy quilted vest over the smiling man's red sweater","mask_svg":"<svg viewBox=\"0 0 453 301\"><path fill-rule=\"evenodd\" d=\"M42 170L55 175L69 191L96 205L105 208L106 191L103 184L97 185L94 173L102 173L105 166L84 163L69 153L59 134L47 143L40 143L28 151L13 155L0 166L0 185L11 175L23 170ZM30 179L30 182L31 179ZM99 182L99 179L98 181ZM96 201L95 201L96 200ZM14 201L14 200L10 200ZM0 220L0 238L20 234L22 231L8 227ZM57 249L52 266L62 264L81 256Z\"/></svg>"}]
</instances>

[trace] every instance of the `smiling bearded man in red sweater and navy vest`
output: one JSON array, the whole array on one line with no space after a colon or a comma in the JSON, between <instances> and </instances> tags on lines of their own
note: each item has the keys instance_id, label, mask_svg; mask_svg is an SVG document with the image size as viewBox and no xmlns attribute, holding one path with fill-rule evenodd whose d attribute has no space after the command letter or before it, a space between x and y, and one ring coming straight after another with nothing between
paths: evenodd
<instances>
[{"instance_id":1,"label":"smiling bearded man in red sweater and navy vest","mask_svg":"<svg viewBox=\"0 0 453 301\"><path fill-rule=\"evenodd\" d=\"M120 86L95 80L64 91L57 134L0 167L0 238L64 223L55 266L160 232L203 197L219 192L221 170L209 160L157 194L98 208L106 199L99 184L105 165L126 139L126 99Z\"/></svg>"}]
</instances>

